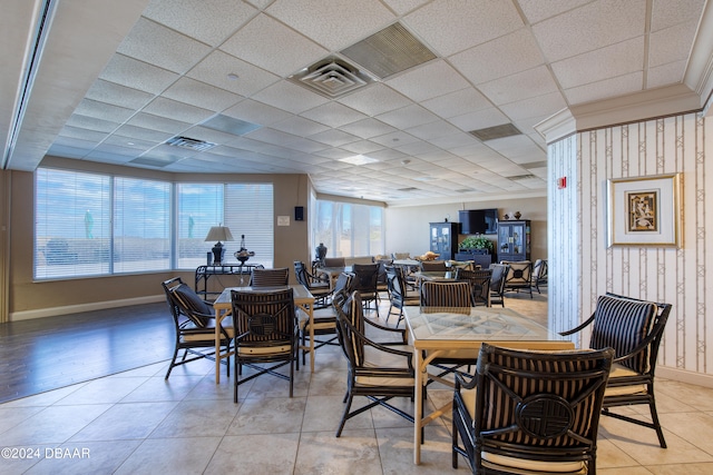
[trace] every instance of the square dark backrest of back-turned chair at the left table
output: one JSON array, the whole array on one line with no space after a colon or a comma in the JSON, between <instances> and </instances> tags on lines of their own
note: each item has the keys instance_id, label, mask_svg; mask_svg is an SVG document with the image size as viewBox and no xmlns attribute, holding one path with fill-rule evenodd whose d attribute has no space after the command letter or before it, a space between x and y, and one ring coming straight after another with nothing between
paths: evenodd
<instances>
[{"instance_id":1,"label":"square dark backrest of back-turned chair at the left table","mask_svg":"<svg viewBox=\"0 0 713 475\"><path fill-rule=\"evenodd\" d=\"M231 298L238 345L293 343L296 317L292 288L272 291L232 290Z\"/></svg>"}]
</instances>

